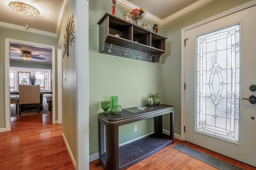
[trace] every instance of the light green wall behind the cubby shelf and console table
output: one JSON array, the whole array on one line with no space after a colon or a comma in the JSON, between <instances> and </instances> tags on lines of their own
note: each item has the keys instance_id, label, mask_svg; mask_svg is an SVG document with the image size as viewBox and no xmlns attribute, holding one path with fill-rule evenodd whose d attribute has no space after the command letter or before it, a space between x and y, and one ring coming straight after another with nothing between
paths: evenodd
<instances>
[{"instance_id":1,"label":"light green wall behind the cubby shelf and console table","mask_svg":"<svg viewBox=\"0 0 256 170\"><path fill-rule=\"evenodd\" d=\"M99 25L97 22L106 13L112 13L109 0L90 0L89 2L89 119L90 154L98 152L98 113L103 110L100 101L118 96L122 109L142 106L153 93L162 97L162 64L149 63L99 53ZM116 16L122 18L129 10L116 6ZM153 22L142 19L142 22ZM161 33L161 28L159 33ZM133 132L133 125L138 131ZM120 127L120 143L154 131L152 119Z\"/></svg>"}]
</instances>

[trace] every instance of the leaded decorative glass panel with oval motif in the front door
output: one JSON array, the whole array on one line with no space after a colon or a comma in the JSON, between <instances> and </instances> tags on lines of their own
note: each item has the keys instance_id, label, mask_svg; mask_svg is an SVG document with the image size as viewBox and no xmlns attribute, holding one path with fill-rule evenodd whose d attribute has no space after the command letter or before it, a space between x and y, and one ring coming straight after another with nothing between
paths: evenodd
<instances>
[{"instance_id":1,"label":"leaded decorative glass panel with oval motif in the front door","mask_svg":"<svg viewBox=\"0 0 256 170\"><path fill-rule=\"evenodd\" d=\"M239 25L197 37L196 131L238 142Z\"/></svg>"}]
</instances>

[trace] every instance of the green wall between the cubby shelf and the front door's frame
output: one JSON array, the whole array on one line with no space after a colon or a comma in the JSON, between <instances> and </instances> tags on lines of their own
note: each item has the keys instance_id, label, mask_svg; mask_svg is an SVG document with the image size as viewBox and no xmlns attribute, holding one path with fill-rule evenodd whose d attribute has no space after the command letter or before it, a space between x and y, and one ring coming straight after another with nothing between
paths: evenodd
<instances>
[{"instance_id":1,"label":"green wall between the cubby shelf and the front door's frame","mask_svg":"<svg viewBox=\"0 0 256 170\"><path fill-rule=\"evenodd\" d=\"M250 0L213 0L188 14L163 25L166 41L166 54L162 57L162 100L174 106L174 133L180 134L181 96L181 29L210 18ZM164 119L166 120L166 119ZM164 122L165 125L168 123ZM164 126L164 129L168 127Z\"/></svg>"}]
</instances>

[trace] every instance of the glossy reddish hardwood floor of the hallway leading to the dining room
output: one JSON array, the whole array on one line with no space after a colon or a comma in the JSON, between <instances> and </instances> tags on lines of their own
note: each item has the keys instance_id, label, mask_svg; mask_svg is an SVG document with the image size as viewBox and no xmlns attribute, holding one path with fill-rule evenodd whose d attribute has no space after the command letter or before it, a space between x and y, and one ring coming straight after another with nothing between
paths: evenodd
<instances>
[{"instance_id":1,"label":"glossy reddish hardwood floor of the hallway leading to the dining room","mask_svg":"<svg viewBox=\"0 0 256 170\"><path fill-rule=\"evenodd\" d=\"M52 114L12 117L11 125L0 133L0 170L74 170Z\"/></svg>"}]
</instances>

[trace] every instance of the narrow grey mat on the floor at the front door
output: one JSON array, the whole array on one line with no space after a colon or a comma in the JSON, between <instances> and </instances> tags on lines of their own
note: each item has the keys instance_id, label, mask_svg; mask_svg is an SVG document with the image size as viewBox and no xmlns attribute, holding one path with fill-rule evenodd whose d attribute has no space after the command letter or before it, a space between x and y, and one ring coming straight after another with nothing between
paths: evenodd
<instances>
[{"instance_id":1,"label":"narrow grey mat on the floor at the front door","mask_svg":"<svg viewBox=\"0 0 256 170\"><path fill-rule=\"evenodd\" d=\"M173 146L173 148L180 150L181 152L183 152L189 156L192 156L193 158L196 158L196 159L198 159L206 164L209 164L215 168L218 168L220 170L242 170L241 168L238 168L237 166L234 166L232 164L224 162L223 160L220 160L218 158L210 156L204 152L200 152L199 150L193 149L193 148L183 145L181 143Z\"/></svg>"}]
</instances>

